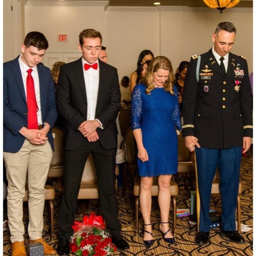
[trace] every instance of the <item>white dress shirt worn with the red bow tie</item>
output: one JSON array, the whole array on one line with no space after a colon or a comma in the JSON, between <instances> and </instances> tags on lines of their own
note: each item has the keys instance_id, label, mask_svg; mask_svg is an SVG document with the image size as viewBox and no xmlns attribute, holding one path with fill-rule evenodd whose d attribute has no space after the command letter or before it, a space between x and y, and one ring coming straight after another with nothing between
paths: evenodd
<instances>
[{"instance_id":1,"label":"white dress shirt worn with the red bow tie","mask_svg":"<svg viewBox=\"0 0 256 256\"><path fill-rule=\"evenodd\" d=\"M100 67L98 60L95 62L98 64L98 68L89 68L88 70L84 69L84 64L93 65L94 63L88 63L84 58L82 58L82 66L84 70L84 80L85 80L85 89L87 96L87 120L95 120L95 113L97 107L97 98L98 98L98 87L100 80ZM96 120L98 120L96 118ZM102 128L102 123L100 120L100 127Z\"/></svg>"}]
</instances>

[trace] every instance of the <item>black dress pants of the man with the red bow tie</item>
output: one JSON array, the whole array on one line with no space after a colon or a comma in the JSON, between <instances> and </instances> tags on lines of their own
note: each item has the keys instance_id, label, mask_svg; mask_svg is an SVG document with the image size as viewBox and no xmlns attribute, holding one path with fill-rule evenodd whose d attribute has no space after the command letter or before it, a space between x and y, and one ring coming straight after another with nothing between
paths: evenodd
<instances>
[{"instance_id":1,"label":"black dress pants of the man with the red bow tie","mask_svg":"<svg viewBox=\"0 0 256 256\"><path fill-rule=\"evenodd\" d=\"M111 235L120 233L121 224L117 219L115 188L116 151L116 148L104 149L99 140L88 142L86 138L78 149L65 151L64 191L58 217L59 236L70 238L74 233L71 226L75 219L76 202L85 162L90 153L96 169L101 210L107 220L107 231Z\"/></svg>"}]
</instances>

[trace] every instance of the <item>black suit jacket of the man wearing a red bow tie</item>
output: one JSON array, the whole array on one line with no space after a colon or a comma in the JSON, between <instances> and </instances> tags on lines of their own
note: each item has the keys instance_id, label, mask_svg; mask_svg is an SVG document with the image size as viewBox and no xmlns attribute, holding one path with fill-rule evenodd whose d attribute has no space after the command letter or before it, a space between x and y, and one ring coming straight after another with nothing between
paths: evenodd
<instances>
[{"instance_id":1,"label":"black suit jacket of the man wearing a red bow tie","mask_svg":"<svg viewBox=\"0 0 256 256\"><path fill-rule=\"evenodd\" d=\"M99 60L100 78L95 118L104 129L97 128L100 143L105 149L117 147L116 118L120 110L120 89L117 69ZM65 120L65 149L75 150L83 135L78 128L87 120L87 96L82 58L61 66L57 85L57 107Z\"/></svg>"}]
</instances>

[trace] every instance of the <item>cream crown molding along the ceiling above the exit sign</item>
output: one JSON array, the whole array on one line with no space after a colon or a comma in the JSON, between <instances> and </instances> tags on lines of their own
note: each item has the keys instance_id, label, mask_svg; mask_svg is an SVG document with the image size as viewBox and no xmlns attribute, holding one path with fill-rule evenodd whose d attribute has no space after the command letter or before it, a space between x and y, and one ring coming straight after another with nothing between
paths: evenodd
<instances>
[{"instance_id":1,"label":"cream crown molding along the ceiling above the exit sign","mask_svg":"<svg viewBox=\"0 0 256 256\"><path fill-rule=\"evenodd\" d=\"M60 5L60 6L103 6L105 9L109 6L109 1L83 1L83 0L28 0L27 5Z\"/></svg>"}]
</instances>

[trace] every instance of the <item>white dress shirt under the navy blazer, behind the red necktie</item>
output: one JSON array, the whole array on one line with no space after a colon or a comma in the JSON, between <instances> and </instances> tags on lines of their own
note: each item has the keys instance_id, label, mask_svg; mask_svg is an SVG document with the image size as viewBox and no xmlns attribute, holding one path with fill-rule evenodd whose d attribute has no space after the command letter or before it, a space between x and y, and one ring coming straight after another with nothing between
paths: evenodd
<instances>
[{"instance_id":1,"label":"white dress shirt under the navy blazer, behind the red necktie","mask_svg":"<svg viewBox=\"0 0 256 256\"><path fill-rule=\"evenodd\" d=\"M38 77L38 72L37 72L37 66L34 66L33 68L30 68L27 64L25 64L22 59L20 58L18 59L18 62L20 64L20 69L21 69L21 75L22 75L22 80L23 80L23 86L24 86L24 90L25 90L25 95L26 95L26 99L27 99L27 70L28 69L32 69L33 71L31 72L32 78L34 80L34 89L35 89L35 94L36 94L36 102L37 102L37 107L38 107L38 111L37 111L37 122L38 125L43 124L42 121L42 112L41 112L41 100L40 100L40 87L39 87L39 77Z\"/></svg>"}]
</instances>

